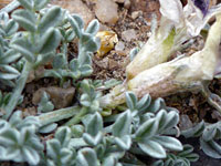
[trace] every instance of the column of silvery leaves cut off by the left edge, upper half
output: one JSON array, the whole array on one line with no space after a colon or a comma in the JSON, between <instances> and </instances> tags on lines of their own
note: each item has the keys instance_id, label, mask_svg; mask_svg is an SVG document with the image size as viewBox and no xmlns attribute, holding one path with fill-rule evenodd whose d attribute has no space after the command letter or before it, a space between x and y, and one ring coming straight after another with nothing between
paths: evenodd
<instances>
[{"instance_id":1,"label":"column of silvery leaves cut off by the left edge, upper half","mask_svg":"<svg viewBox=\"0 0 221 166\"><path fill-rule=\"evenodd\" d=\"M15 62L21 54L9 48L9 41L18 29L19 24L9 19L8 13L0 13L0 82L10 86L14 86L12 80L20 75L20 72L11 63Z\"/></svg>"}]
</instances>

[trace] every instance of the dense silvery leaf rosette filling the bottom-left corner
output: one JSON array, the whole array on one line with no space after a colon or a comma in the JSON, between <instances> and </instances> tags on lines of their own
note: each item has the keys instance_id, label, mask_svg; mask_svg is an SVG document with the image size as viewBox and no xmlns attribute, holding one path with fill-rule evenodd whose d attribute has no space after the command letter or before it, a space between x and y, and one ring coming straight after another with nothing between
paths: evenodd
<instances>
[{"instance_id":1,"label":"dense silvery leaf rosette filling the bottom-left corner","mask_svg":"<svg viewBox=\"0 0 221 166\"><path fill-rule=\"evenodd\" d=\"M0 120L0 160L36 165L43 151L43 144L35 134L39 126L38 118L22 118L20 111L14 112L9 122Z\"/></svg>"}]
</instances>

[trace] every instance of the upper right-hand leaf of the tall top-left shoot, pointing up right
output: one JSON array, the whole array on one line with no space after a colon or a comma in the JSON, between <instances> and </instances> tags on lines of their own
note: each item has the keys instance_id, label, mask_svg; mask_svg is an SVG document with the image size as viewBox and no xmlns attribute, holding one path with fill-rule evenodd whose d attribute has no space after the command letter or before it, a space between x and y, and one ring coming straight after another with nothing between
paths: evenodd
<instances>
[{"instance_id":1,"label":"upper right-hand leaf of the tall top-left shoot, pointing up right","mask_svg":"<svg viewBox=\"0 0 221 166\"><path fill-rule=\"evenodd\" d=\"M50 28L55 28L63 20L63 11L60 7L52 7L41 19L39 23L40 33L46 32Z\"/></svg>"}]
</instances>

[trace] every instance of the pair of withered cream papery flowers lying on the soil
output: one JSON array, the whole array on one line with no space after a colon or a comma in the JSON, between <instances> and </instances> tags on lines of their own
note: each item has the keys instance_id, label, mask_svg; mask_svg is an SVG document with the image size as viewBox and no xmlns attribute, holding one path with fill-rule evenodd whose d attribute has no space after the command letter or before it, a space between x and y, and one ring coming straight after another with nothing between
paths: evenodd
<instances>
[{"instance_id":1,"label":"pair of withered cream papery flowers lying on the soil","mask_svg":"<svg viewBox=\"0 0 221 166\"><path fill-rule=\"evenodd\" d=\"M162 42L160 39L156 40L156 37L160 34L160 28L164 28L161 27L162 24L160 24L160 28L156 33L158 35L154 34L150 37L146 45L144 45L141 51L127 66L126 72L128 77L124 84L118 85L109 94L101 98L101 104L103 106L112 107L124 103L126 91L133 91L139 97L144 96L146 93L149 93L152 97L159 97L183 91L202 90L206 96L210 96L210 92L204 87L204 84L208 81L211 81L214 77L215 72L220 69L218 62L220 61L221 6L212 7L208 10L207 14L203 15L202 11L199 10L191 0L188 1L183 11L181 10L181 3L178 0L171 1L171 3L177 4L173 6L173 10L168 8L168 3L170 2L160 1L160 11L162 13L161 20L172 22L176 30L168 29L169 33L167 33L168 37L165 40L167 41L167 50L160 50L160 48L165 46L162 45L162 43L165 44L165 41ZM177 46L175 44L176 41L187 40L192 35L199 34L200 30L212 15L215 15L217 21L210 28L204 48L201 51L193 53L191 56L181 56L170 62L165 62L167 60L165 59L165 55L168 58L168 52L171 53L173 46ZM166 17L172 18L172 20L168 20ZM200 23L200 25L198 23ZM172 38L171 33L173 33ZM182 34L181 38L180 34ZM170 40L168 40L168 38ZM169 44L171 46L168 46ZM208 100L211 101L211 97ZM215 108L218 107L215 106Z\"/></svg>"}]
</instances>

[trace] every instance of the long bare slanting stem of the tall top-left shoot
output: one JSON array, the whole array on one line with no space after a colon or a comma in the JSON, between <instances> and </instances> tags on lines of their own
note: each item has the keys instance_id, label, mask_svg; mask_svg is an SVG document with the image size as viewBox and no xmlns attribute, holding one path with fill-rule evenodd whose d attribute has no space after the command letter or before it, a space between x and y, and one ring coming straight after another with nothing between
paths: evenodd
<instances>
[{"instance_id":1,"label":"long bare slanting stem of the tall top-left shoot","mask_svg":"<svg viewBox=\"0 0 221 166\"><path fill-rule=\"evenodd\" d=\"M29 72L32 70L31 63L28 61L25 62L22 73L20 77L17 81L17 85L11 94L11 97L9 100L9 103L4 106L6 115L3 116L4 120L8 120L10 115L12 114L13 110L15 108L18 101L21 96L21 93L24 89L24 85L27 83L27 79L29 76Z\"/></svg>"}]
</instances>

